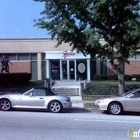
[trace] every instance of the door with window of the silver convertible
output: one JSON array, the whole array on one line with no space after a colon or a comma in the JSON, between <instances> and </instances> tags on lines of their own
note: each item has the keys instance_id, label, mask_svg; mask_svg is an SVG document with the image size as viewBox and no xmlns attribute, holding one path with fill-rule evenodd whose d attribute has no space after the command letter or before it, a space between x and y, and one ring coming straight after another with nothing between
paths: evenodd
<instances>
[{"instance_id":1,"label":"door with window of the silver convertible","mask_svg":"<svg viewBox=\"0 0 140 140\"><path fill-rule=\"evenodd\" d=\"M22 106L41 108L45 103L46 92L44 89L34 89L30 95L22 96Z\"/></svg>"}]
</instances>

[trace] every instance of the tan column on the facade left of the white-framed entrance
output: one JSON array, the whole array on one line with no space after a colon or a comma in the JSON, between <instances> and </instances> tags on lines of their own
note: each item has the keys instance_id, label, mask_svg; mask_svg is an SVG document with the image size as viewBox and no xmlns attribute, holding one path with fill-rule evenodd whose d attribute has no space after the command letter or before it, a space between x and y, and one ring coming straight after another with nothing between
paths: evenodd
<instances>
[{"instance_id":1,"label":"tan column on the facade left of the white-framed entrance","mask_svg":"<svg viewBox=\"0 0 140 140\"><path fill-rule=\"evenodd\" d=\"M42 59L41 53L37 53L37 79L42 80Z\"/></svg>"}]
</instances>

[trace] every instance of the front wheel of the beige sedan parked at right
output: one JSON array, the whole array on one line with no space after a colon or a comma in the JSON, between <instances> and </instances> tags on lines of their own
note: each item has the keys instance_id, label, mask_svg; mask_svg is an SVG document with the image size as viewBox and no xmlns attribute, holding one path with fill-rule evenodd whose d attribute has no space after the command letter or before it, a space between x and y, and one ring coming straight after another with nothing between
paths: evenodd
<instances>
[{"instance_id":1,"label":"front wheel of the beige sedan parked at right","mask_svg":"<svg viewBox=\"0 0 140 140\"><path fill-rule=\"evenodd\" d=\"M122 106L119 103L111 103L108 107L108 112L113 115L119 115L122 113Z\"/></svg>"}]
</instances>

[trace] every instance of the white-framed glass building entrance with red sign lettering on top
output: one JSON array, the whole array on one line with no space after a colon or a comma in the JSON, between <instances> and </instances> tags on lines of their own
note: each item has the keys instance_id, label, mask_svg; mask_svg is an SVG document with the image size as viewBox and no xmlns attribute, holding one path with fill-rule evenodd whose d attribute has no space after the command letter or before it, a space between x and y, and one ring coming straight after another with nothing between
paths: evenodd
<instances>
[{"instance_id":1,"label":"white-framed glass building entrance with red sign lettering on top","mask_svg":"<svg viewBox=\"0 0 140 140\"><path fill-rule=\"evenodd\" d=\"M89 80L90 55L76 52L46 52L46 77L53 80Z\"/></svg>"}]
</instances>

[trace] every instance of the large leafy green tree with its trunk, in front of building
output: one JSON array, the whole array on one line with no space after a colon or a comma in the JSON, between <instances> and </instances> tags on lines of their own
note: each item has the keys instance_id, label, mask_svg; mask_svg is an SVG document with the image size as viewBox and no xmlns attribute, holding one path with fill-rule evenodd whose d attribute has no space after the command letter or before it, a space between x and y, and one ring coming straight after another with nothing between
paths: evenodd
<instances>
[{"instance_id":1,"label":"large leafy green tree with its trunk, in front of building","mask_svg":"<svg viewBox=\"0 0 140 140\"><path fill-rule=\"evenodd\" d=\"M119 93L123 93L125 63L140 48L139 0L34 1L45 4L35 26L57 38L57 47L65 42L85 55L108 57L118 74Z\"/></svg>"}]
</instances>

